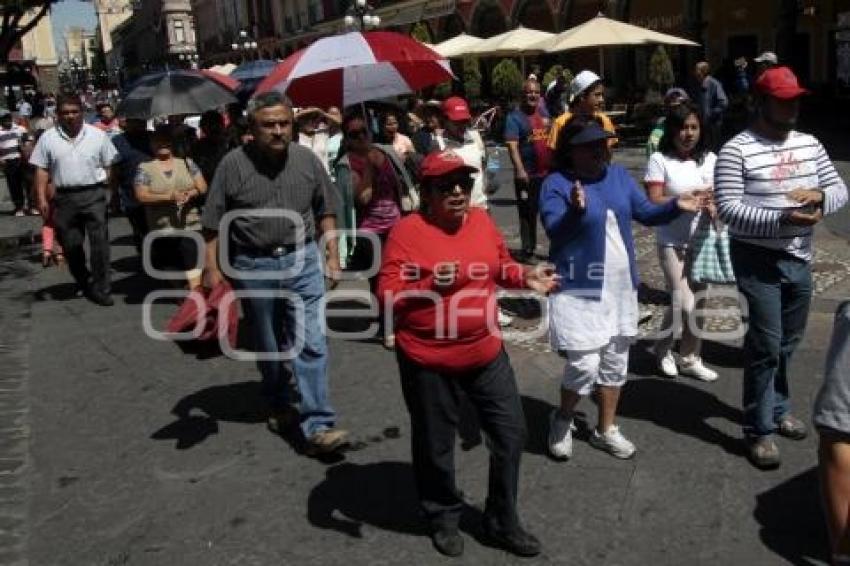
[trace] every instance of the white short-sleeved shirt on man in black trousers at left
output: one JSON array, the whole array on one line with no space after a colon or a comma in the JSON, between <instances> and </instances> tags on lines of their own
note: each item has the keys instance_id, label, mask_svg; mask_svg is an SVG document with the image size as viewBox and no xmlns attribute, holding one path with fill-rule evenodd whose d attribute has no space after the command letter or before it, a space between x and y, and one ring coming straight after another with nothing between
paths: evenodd
<instances>
[{"instance_id":1,"label":"white short-sleeved shirt on man in black trousers at left","mask_svg":"<svg viewBox=\"0 0 850 566\"><path fill-rule=\"evenodd\" d=\"M50 173L62 187L94 185L106 181L106 168L119 161L118 151L104 132L83 124L75 138L56 126L38 139L30 163Z\"/></svg>"}]
</instances>

